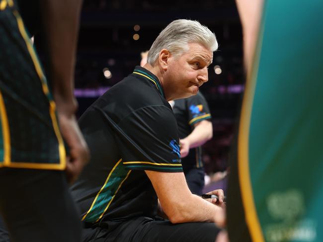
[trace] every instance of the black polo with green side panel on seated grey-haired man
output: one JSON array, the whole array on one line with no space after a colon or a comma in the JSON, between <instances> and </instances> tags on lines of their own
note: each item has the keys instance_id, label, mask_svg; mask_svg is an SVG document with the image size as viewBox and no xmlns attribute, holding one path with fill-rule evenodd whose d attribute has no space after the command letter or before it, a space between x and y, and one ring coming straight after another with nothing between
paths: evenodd
<instances>
[{"instance_id":1,"label":"black polo with green side panel on seated grey-haired man","mask_svg":"<svg viewBox=\"0 0 323 242\"><path fill-rule=\"evenodd\" d=\"M72 186L82 220L154 217L157 195L145 170L182 172L176 120L158 78L137 66L79 124L91 151Z\"/></svg>"}]
</instances>

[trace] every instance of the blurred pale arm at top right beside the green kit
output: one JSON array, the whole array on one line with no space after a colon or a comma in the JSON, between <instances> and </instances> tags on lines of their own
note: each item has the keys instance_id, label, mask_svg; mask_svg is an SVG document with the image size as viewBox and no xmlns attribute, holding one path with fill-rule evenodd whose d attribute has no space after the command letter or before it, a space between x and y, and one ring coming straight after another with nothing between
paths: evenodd
<instances>
[{"instance_id":1,"label":"blurred pale arm at top right beside the green kit","mask_svg":"<svg viewBox=\"0 0 323 242\"><path fill-rule=\"evenodd\" d=\"M242 23L244 65L249 73L258 38L263 0L236 0L236 2Z\"/></svg>"}]
</instances>

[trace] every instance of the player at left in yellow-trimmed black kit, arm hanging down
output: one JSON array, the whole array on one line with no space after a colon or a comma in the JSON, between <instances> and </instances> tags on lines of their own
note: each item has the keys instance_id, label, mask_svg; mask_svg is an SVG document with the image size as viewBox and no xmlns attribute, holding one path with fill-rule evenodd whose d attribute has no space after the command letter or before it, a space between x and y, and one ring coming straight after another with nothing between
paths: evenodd
<instances>
[{"instance_id":1,"label":"player at left in yellow-trimmed black kit, arm hanging down","mask_svg":"<svg viewBox=\"0 0 323 242\"><path fill-rule=\"evenodd\" d=\"M81 1L28 4L40 9L49 79L17 2L0 0L0 215L13 242L78 242L81 223L68 182L88 160L73 94Z\"/></svg>"}]
</instances>

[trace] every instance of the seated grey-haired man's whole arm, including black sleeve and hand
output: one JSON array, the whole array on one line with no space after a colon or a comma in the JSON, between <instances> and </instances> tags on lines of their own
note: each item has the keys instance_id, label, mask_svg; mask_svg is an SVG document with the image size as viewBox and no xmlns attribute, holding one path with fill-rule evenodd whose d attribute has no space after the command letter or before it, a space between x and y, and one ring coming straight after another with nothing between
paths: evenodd
<instances>
[{"instance_id":1,"label":"seated grey-haired man's whole arm, including black sleeve and hand","mask_svg":"<svg viewBox=\"0 0 323 242\"><path fill-rule=\"evenodd\" d=\"M214 221L224 225L224 209L193 195L187 186L176 146L176 120L170 108L146 106L128 115L118 126L137 145L131 147L124 138L116 136L124 166L145 170L172 223ZM219 202L223 203L222 190L213 194L220 196Z\"/></svg>"}]
</instances>

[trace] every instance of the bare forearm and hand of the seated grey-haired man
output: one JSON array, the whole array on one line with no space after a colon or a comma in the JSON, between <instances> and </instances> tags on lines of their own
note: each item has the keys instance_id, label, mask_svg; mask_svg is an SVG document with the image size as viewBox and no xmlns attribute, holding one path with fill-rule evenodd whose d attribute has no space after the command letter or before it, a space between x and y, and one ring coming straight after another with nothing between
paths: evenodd
<instances>
[{"instance_id":1,"label":"bare forearm and hand of the seated grey-haired man","mask_svg":"<svg viewBox=\"0 0 323 242\"><path fill-rule=\"evenodd\" d=\"M158 172L145 170L160 200L163 212L173 224L185 222L215 222L222 227L226 223L225 211L220 206L193 195L182 172ZM223 203L223 191L212 194ZM213 201L215 202L215 200Z\"/></svg>"}]
</instances>

